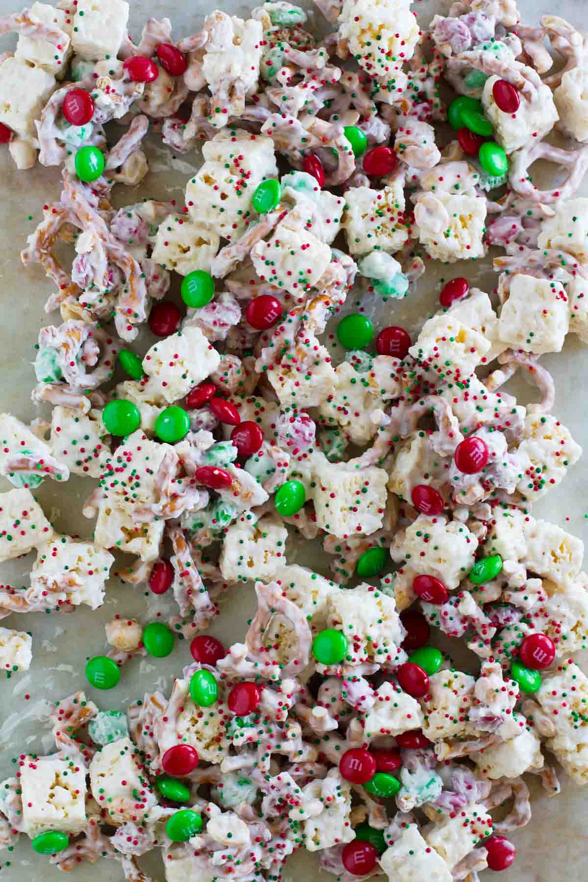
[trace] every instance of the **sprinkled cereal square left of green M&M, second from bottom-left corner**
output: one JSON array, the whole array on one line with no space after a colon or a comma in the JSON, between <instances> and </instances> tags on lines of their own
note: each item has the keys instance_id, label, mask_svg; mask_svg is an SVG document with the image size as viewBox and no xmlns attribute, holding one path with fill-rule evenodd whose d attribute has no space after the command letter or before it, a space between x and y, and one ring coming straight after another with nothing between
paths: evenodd
<instances>
[{"instance_id":1,"label":"sprinkled cereal square left of green M&M, second from bottom-left corner","mask_svg":"<svg viewBox=\"0 0 588 882\"><path fill-rule=\"evenodd\" d=\"M141 754L130 738L105 744L90 763L90 789L111 824L139 818L157 804L143 773ZM139 795L139 796L138 796Z\"/></svg>"}]
</instances>

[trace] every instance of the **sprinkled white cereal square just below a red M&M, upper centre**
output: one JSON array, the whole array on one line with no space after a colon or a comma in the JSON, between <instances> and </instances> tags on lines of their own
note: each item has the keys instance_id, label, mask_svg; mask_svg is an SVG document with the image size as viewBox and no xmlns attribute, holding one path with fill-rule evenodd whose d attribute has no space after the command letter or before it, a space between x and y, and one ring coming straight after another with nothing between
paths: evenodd
<instances>
[{"instance_id":1,"label":"sprinkled white cereal square just below a red M&M, upper centre","mask_svg":"<svg viewBox=\"0 0 588 882\"><path fill-rule=\"evenodd\" d=\"M367 254L380 249L393 254L408 239L405 226L405 193L397 182L383 190L353 187L345 193L341 228L345 230L350 254Z\"/></svg>"}]
</instances>

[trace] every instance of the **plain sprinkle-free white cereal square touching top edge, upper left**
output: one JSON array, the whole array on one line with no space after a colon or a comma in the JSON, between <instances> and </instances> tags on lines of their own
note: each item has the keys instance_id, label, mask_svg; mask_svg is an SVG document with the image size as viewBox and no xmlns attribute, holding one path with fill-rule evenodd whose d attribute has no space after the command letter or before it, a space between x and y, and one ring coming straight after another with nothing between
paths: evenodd
<instances>
[{"instance_id":1,"label":"plain sprinkle-free white cereal square touching top edge, upper left","mask_svg":"<svg viewBox=\"0 0 588 882\"><path fill-rule=\"evenodd\" d=\"M78 0L73 19L71 47L90 61L115 60L129 22L125 0Z\"/></svg>"}]
</instances>

